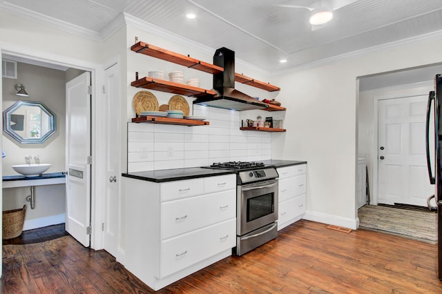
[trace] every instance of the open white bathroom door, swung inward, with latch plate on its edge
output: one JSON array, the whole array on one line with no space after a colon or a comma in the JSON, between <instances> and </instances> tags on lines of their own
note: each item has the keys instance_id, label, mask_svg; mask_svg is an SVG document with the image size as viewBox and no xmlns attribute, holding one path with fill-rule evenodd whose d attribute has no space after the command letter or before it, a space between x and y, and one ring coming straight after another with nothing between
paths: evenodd
<instances>
[{"instance_id":1,"label":"open white bathroom door, swung inward, with latch plate on its edge","mask_svg":"<svg viewBox=\"0 0 442 294\"><path fill-rule=\"evenodd\" d=\"M90 245L90 72L66 84L66 231Z\"/></svg>"}]
</instances>

